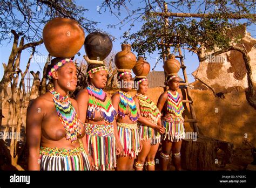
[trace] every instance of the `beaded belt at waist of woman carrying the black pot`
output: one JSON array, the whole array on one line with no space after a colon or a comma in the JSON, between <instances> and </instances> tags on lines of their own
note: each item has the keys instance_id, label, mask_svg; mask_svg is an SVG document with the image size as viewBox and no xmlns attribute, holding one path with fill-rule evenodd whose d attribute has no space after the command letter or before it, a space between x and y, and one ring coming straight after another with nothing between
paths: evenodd
<instances>
[{"instance_id":1,"label":"beaded belt at waist of woman carrying the black pot","mask_svg":"<svg viewBox=\"0 0 256 188\"><path fill-rule=\"evenodd\" d=\"M112 124L84 124L85 133L96 136L112 136L114 134L114 126Z\"/></svg>"}]
</instances>

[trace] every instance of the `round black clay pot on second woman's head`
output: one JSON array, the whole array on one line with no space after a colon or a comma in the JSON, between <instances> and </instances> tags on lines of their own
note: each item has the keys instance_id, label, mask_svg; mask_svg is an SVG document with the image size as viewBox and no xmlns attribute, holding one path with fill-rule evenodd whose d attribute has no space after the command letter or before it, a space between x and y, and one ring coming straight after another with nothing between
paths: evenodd
<instances>
[{"instance_id":1,"label":"round black clay pot on second woman's head","mask_svg":"<svg viewBox=\"0 0 256 188\"><path fill-rule=\"evenodd\" d=\"M103 61L110 54L113 44L107 34L90 33L84 41L84 48L89 59Z\"/></svg>"}]
</instances>

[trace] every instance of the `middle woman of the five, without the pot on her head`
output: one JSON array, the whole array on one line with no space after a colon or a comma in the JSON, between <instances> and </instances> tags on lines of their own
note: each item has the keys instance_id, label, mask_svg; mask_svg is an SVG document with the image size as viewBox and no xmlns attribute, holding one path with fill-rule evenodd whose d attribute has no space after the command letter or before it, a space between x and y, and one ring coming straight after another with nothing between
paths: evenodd
<instances>
[{"instance_id":1,"label":"middle woman of the five, without the pot on her head","mask_svg":"<svg viewBox=\"0 0 256 188\"><path fill-rule=\"evenodd\" d=\"M131 70L119 69L117 77L121 89L113 94L112 102L118 112L118 144L123 148L117 159L117 170L132 170L134 158L142 149L137 126L139 113L132 96L128 93L133 86Z\"/></svg>"}]
</instances>

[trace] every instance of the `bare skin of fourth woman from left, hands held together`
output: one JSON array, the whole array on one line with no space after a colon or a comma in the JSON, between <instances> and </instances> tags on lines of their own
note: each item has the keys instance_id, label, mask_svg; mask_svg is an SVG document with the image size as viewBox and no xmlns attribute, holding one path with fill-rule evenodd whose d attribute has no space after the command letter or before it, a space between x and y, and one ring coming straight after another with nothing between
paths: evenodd
<instances>
[{"instance_id":1,"label":"bare skin of fourth woman from left, hands held together","mask_svg":"<svg viewBox=\"0 0 256 188\"><path fill-rule=\"evenodd\" d=\"M139 89L137 93L147 95L147 89L149 88L149 82L143 81L139 84ZM136 96L133 97L133 100L136 103L136 107L138 109L138 112L140 114L140 103ZM144 126L148 126L154 129L157 129L161 134L165 132L165 128L161 125L161 119L158 119L157 126L149 121L146 117L143 117L142 115L139 116L138 121L142 123ZM152 162L154 161L154 157L156 156L159 143L155 145L150 145L150 141L142 141L143 147L142 151L140 151L138 157L137 157L137 163L144 164L145 162ZM135 170L143 170L140 168L136 168ZM147 166L147 170L155 170L154 166Z\"/></svg>"}]
</instances>

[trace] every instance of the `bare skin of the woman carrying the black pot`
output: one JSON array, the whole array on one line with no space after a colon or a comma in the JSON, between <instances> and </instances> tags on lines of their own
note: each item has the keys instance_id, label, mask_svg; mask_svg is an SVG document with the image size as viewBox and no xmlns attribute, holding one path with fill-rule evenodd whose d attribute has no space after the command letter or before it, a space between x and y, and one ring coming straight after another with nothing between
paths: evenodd
<instances>
[{"instance_id":1,"label":"bare skin of the woman carrying the black pot","mask_svg":"<svg viewBox=\"0 0 256 188\"><path fill-rule=\"evenodd\" d=\"M92 86L98 89L103 89L106 86L107 71L102 70L93 74L89 74L89 78L90 78L89 83ZM107 94L107 96L109 96L109 98L111 99L109 94ZM82 122L86 122L90 124L106 124L106 122L103 120L103 117L100 115L99 112L95 112L95 119L86 118L87 108L89 104L89 94L86 88L80 90L80 92L76 96L76 101L78 103L79 116ZM113 123L113 125L114 125L114 136L116 137L116 141L119 141L116 123ZM119 145L120 145L120 142L119 143L117 142L116 155L119 155L120 152L122 151L122 147L119 147Z\"/></svg>"}]
</instances>

